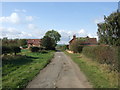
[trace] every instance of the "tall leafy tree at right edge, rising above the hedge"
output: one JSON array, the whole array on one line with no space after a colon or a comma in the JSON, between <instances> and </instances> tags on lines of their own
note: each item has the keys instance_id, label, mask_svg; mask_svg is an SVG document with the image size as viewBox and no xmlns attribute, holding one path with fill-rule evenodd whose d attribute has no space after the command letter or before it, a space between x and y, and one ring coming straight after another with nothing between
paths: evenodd
<instances>
[{"instance_id":1,"label":"tall leafy tree at right edge, rising above the hedge","mask_svg":"<svg viewBox=\"0 0 120 90\"><path fill-rule=\"evenodd\" d=\"M120 12L104 16L104 22L98 24L97 33L100 43L120 46Z\"/></svg>"}]
</instances>

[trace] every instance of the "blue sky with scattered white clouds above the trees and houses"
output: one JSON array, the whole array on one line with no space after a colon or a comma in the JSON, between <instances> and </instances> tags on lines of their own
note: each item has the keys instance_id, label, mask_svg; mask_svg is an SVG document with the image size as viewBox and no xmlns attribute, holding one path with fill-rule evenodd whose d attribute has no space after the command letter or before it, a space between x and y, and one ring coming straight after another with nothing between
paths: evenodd
<instances>
[{"instance_id":1,"label":"blue sky with scattered white clouds above the trees and houses","mask_svg":"<svg viewBox=\"0 0 120 90\"><path fill-rule=\"evenodd\" d=\"M61 34L59 44L76 37L97 37L97 23L118 9L117 2L4 2L0 38L41 39L48 30Z\"/></svg>"}]
</instances>

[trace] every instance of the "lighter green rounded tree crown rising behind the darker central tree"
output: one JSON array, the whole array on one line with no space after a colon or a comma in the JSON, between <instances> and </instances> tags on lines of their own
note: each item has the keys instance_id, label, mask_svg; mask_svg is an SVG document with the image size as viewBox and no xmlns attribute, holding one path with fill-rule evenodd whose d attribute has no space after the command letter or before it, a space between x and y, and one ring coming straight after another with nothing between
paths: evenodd
<instances>
[{"instance_id":1,"label":"lighter green rounded tree crown rising behind the darker central tree","mask_svg":"<svg viewBox=\"0 0 120 90\"><path fill-rule=\"evenodd\" d=\"M60 38L61 38L61 35L55 30L51 30L51 31L46 32L45 36L49 36L52 39L54 39L56 44L58 41L60 41Z\"/></svg>"}]
</instances>

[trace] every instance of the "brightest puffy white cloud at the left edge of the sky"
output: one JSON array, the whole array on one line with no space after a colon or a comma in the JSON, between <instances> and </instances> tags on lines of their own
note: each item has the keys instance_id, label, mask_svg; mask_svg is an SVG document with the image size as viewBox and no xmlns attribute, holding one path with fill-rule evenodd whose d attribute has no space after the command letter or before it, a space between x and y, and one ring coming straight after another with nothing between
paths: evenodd
<instances>
[{"instance_id":1,"label":"brightest puffy white cloud at the left edge of the sky","mask_svg":"<svg viewBox=\"0 0 120 90\"><path fill-rule=\"evenodd\" d=\"M20 17L18 16L17 13L12 13L8 17L0 17L0 23L4 23L4 22L17 24L20 22Z\"/></svg>"}]
</instances>

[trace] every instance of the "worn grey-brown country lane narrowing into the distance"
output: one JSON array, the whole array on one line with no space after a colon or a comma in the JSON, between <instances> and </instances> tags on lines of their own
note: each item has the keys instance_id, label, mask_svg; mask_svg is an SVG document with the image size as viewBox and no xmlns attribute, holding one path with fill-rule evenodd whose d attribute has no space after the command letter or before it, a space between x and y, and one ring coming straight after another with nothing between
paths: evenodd
<instances>
[{"instance_id":1,"label":"worn grey-brown country lane narrowing into the distance","mask_svg":"<svg viewBox=\"0 0 120 90\"><path fill-rule=\"evenodd\" d=\"M92 85L70 57L56 52L51 63L26 88L92 88Z\"/></svg>"}]
</instances>

